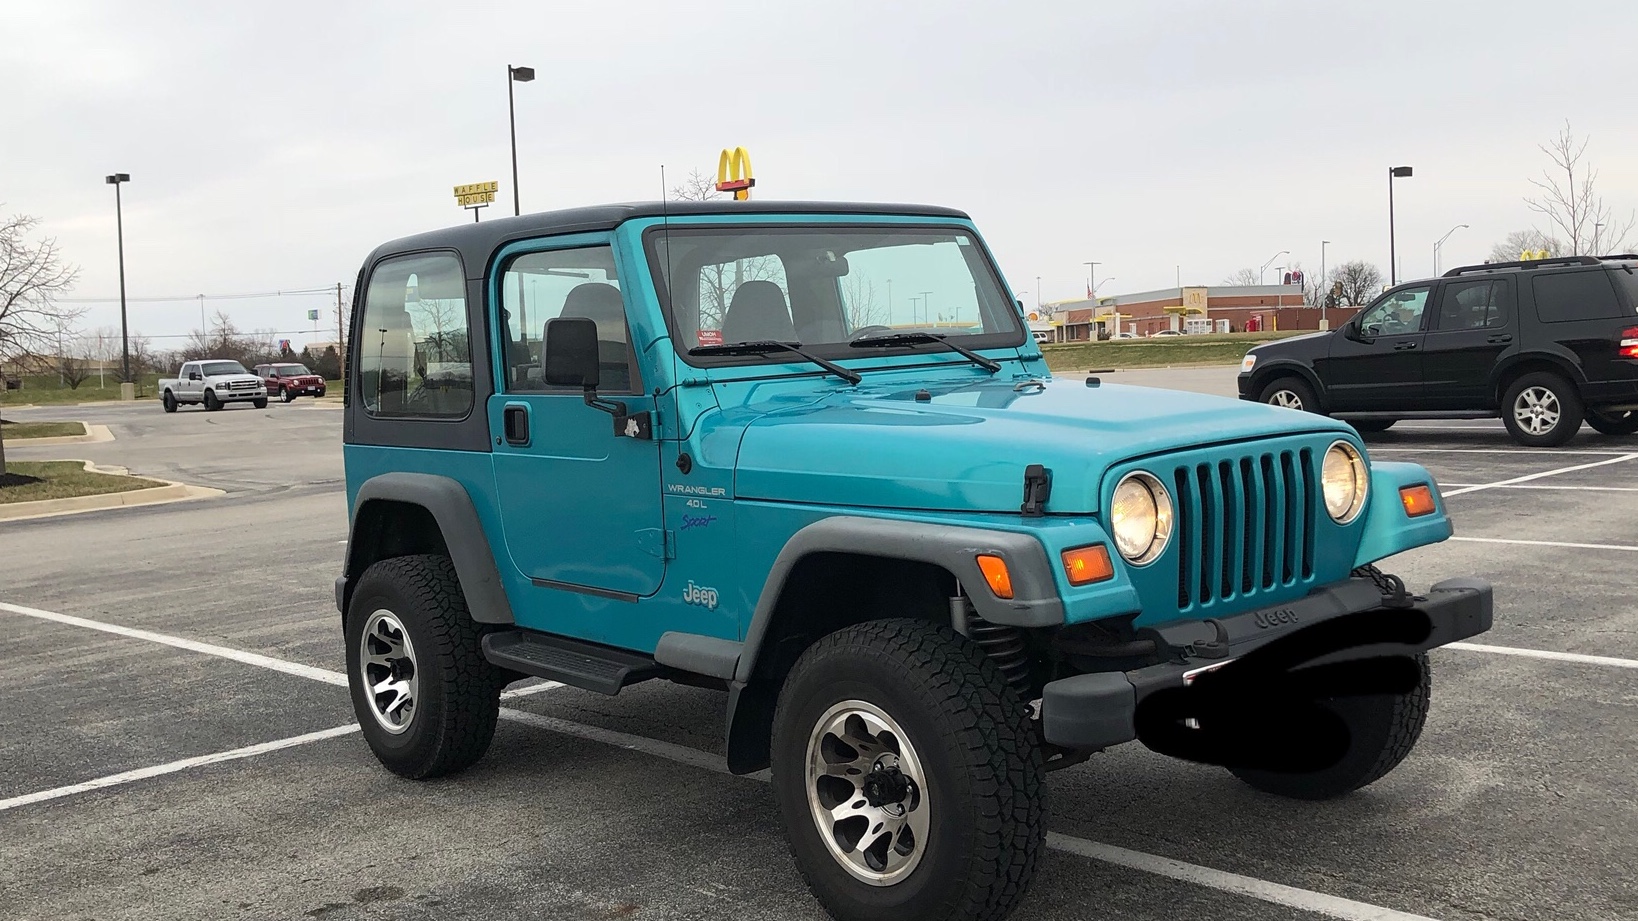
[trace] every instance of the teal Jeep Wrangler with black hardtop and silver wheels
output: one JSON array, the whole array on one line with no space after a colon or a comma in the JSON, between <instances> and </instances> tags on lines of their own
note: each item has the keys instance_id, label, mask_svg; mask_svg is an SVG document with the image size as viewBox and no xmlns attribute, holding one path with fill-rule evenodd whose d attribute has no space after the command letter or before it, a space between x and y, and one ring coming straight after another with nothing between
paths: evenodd
<instances>
[{"instance_id":1,"label":"teal Jeep Wrangler with black hardtop and silver wheels","mask_svg":"<svg viewBox=\"0 0 1638 921\"><path fill-rule=\"evenodd\" d=\"M1328 798L1394 769L1491 588L1414 464L1310 413L1053 377L966 215L608 205L398 239L347 354L364 736L480 759L501 688L727 693L837 918L1007 914L1045 772L1129 741Z\"/></svg>"}]
</instances>

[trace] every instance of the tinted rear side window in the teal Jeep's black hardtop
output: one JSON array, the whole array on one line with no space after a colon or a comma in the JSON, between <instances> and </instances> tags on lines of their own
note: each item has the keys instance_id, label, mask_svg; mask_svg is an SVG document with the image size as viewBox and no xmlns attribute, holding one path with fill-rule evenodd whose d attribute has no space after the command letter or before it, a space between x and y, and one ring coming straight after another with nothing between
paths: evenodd
<instances>
[{"instance_id":1,"label":"tinted rear side window in the teal Jeep's black hardtop","mask_svg":"<svg viewBox=\"0 0 1638 921\"><path fill-rule=\"evenodd\" d=\"M377 264L355 333L365 411L429 418L472 411L467 333L467 284L459 257L431 252Z\"/></svg>"}]
</instances>

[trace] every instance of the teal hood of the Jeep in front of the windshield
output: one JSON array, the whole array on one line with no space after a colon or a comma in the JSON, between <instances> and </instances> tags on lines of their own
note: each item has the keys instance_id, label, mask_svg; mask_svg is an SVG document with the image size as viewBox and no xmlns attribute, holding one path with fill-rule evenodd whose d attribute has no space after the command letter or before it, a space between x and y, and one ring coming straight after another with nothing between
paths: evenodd
<instances>
[{"instance_id":1,"label":"teal hood of the Jeep in front of the windshield","mask_svg":"<svg viewBox=\"0 0 1638 921\"><path fill-rule=\"evenodd\" d=\"M1024 469L1052 470L1048 510L1096 513L1104 472L1202 444L1348 426L1325 416L1179 390L1081 380L988 380L832 393L757 416L744 433L739 498L1017 513Z\"/></svg>"}]
</instances>

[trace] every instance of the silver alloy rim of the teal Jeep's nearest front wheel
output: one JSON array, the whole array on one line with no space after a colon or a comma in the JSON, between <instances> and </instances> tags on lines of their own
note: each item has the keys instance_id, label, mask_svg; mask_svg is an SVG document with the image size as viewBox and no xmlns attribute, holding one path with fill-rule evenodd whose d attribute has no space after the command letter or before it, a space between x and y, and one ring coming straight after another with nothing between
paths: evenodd
<instances>
[{"instance_id":1,"label":"silver alloy rim of the teal Jeep's nearest front wheel","mask_svg":"<svg viewBox=\"0 0 1638 921\"><path fill-rule=\"evenodd\" d=\"M927 849L927 775L904 729L880 706L844 700L808 736L808 810L830 855L855 878L898 883Z\"/></svg>"}]
</instances>

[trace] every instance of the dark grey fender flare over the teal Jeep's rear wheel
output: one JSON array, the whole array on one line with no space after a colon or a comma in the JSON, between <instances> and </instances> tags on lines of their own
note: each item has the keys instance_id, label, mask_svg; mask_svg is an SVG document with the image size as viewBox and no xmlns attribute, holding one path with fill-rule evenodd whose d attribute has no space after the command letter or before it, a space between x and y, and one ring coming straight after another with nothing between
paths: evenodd
<instances>
[{"instance_id":1,"label":"dark grey fender flare over the teal Jeep's rear wheel","mask_svg":"<svg viewBox=\"0 0 1638 921\"><path fill-rule=\"evenodd\" d=\"M347 611L351 585L367 565L372 544L360 541L357 528L372 501L396 501L424 508L442 531L444 546L455 564L455 575L460 578L460 590L467 597L472 619L491 624L514 623L511 600L508 600L506 587L501 583L500 567L495 565L495 552L490 549L488 534L483 531L483 523L478 519L478 510L472 505L467 487L434 474L380 474L359 487L352 501L352 524L347 534L347 564L342 577L336 580L336 606L342 613Z\"/></svg>"}]
</instances>

